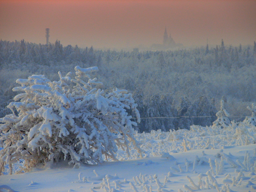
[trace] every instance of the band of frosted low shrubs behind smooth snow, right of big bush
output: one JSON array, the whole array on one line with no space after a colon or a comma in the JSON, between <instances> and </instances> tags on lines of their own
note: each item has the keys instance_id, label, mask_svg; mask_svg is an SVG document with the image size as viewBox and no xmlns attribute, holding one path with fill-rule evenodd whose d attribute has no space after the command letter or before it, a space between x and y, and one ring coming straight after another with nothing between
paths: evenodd
<instances>
[{"instance_id":1,"label":"band of frosted low shrubs behind smooth snow, right of big bush","mask_svg":"<svg viewBox=\"0 0 256 192\"><path fill-rule=\"evenodd\" d=\"M195 149L224 149L256 143L256 127L245 123L231 122L225 129L220 126L190 126L190 130L180 129L162 132L137 133L136 140L145 151L145 156L161 156L163 153L178 153ZM117 153L118 160L134 159L139 156L136 150L130 151L128 157L122 151Z\"/></svg>"}]
</instances>

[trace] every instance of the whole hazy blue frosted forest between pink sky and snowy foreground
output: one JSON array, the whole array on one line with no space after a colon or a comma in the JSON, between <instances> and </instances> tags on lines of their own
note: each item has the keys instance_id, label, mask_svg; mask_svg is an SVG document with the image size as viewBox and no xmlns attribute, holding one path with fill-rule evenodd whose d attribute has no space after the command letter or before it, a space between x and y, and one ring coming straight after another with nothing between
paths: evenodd
<instances>
[{"instance_id":1,"label":"whole hazy blue frosted forest between pink sky and snowy foreground","mask_svg":"<svg viewBox=\"0 0 256 192\"><path fill-rule=\"evenodd\" d=\"M53 81L59 79L58 71L97 66L92 76L103 83L102 89L132 93L141 117L139 132L209 126L217 118L220 100L229 119L241 121L251 115L246 107L256 102L255 63L255 42L235 47L225 45L225 39L214 48L132 52L63 46L60 41L45 45L1 40L0 117L11 113L6 106L17 94L12 92L16 79L44 74Z\"/></svg>"}]
</instances>

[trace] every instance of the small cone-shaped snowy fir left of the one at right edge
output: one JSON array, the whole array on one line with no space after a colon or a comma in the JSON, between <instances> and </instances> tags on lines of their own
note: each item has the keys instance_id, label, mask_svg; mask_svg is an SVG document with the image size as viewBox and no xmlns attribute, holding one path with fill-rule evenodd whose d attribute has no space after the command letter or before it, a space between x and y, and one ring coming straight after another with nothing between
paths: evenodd
<instances>
[{"instance_id":1,"label":"small cone-shaped snowy fir left of the one at right edge","mask_svg":"<svg viewBox=\"0 0 256 192\"><path fill-rule=\"evenodd\" d=\"M213 126L220 126L221 128L226 128L230 124L228 119L229 113L224 106L224 100L220 101L220 111L216 113L217 120L212 122Z\"/></svg>"}]
</instances>

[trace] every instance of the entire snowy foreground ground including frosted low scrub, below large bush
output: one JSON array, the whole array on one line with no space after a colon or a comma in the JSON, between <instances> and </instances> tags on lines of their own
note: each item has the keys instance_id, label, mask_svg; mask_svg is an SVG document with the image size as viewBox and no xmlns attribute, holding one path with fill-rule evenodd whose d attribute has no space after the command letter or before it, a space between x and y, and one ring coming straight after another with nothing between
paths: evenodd
<instances>
[{"instance_id":1,"label":"entire snowy foreground ground including frosted low scrub, below large bush","mask_svg":"<svg viewBox=\"0 0 256 192\"><path fill-rule=\"evenodd\" d=\"M256 191L256 128L191 127L137 134L143 158L120 151L118 162L64 166L0 176L0 191Z\"/></svg>"}]
</instances>

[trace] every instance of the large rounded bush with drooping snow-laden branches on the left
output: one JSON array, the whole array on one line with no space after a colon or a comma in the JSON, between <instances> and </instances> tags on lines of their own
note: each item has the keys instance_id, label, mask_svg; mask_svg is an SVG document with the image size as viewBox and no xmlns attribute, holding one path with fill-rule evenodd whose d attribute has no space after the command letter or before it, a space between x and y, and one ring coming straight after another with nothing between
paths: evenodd
<instances>
[{"instance_id":1,"label":"large rounded bush with drooping snow-laden branches on the left","mask_svg":"<svg viewBox=\"0 0 256 192\"><path fill-rule=\"evenodd\" d=\"M71 72L66 76L59 72L59 81L51 82L44 75L16 80L21 86L13 91L23 93L8 105L13 113L0 119L4 123L0 126L4 147L0 171L5 164L11 170L20 159L25 160L23 171L27 171L47 162L101 163L103 155L115 159L119 147L129 154L133 146L141 153L134 138L137 123L126 112L134 111L140 122L132 94L118 89L104 93L99 88L102 83L88 75L97 67L76 66L75 70L75 79L71 79ZM89 79L87 83L83 77Z\"/></svg>"}]
</instances>

